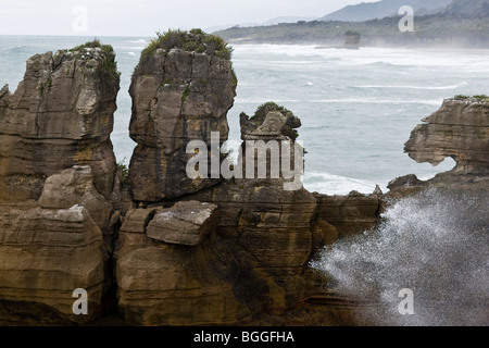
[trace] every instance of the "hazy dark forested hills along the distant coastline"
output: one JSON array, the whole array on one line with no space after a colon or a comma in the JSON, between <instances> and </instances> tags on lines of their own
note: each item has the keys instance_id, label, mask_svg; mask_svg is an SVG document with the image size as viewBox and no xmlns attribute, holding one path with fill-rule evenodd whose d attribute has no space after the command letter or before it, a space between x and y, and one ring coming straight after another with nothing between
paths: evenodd
<instances>
[{"instance_id":1,"label":"hazy dark forested hills along the distant coastline","mask_svg":"<svg viewBox=\"0 0 489 348\"><path fill-rule=\"evenodd\" d=\"M361 46L489 48L489 0L454 0L446 10L416 15L414 33L399 30L400 16L364 22L312 21L216 32L229 42L340 46L344 33L362 35Z\"/></svg>"}]
</instances>

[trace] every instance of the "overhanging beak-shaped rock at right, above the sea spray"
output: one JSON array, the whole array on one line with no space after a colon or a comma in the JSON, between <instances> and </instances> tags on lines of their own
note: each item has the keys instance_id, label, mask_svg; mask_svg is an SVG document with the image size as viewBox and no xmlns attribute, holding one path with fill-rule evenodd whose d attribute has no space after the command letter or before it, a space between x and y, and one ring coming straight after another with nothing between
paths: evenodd
<instances>
[{"instance_id":1,"label":"overhanging beak-shaped rock at right, above the sea spray","mask_svg":"<svg viewBox=\"0 0 489 348\"><path fill-rule=\"evenodd\" d=\"M416 126L404 151L418 163L440 164L452 158L456 166L427 182L415 175L393 179L389 197L403 197L428 186L487 189L489 174L489 99L455 97Z\"/></svg>"}]
</instances>

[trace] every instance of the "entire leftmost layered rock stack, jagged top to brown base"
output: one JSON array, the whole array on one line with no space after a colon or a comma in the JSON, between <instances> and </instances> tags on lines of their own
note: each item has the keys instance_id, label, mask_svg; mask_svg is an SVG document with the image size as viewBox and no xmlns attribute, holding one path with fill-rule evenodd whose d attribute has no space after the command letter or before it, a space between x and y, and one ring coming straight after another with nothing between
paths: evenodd
<instances>
[{"instance_id":1,"label":"entire leftmost layered rock stack, jagged top to brown base","mask_svg":"<svg viewBox=\"0 0 489 348\"><path fill-rule=\"evenodd\" d=\"M98 41L37 54L15 94L0 92L0 322L100 312L111 282L114 57ZM74 314L78 288L88 315Z\"/></svg>"}]
</instances>

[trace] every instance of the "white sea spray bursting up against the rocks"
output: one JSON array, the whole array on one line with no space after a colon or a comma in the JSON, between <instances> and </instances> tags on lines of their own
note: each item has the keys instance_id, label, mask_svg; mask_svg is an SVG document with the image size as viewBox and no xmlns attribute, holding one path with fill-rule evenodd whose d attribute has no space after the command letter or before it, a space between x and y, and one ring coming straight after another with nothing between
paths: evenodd
<instances>
[{"instance_id":1,"label":"white sea spray bursting up against the rocks","mask_svg":"<svg viewBox=\"0 0 489 348\"><path fill-rule=\"evenodd\" d=\"M484 191L429 189L388 206L380 225L325 248L312 268L359 307L372 324L489 324L489 196ZM414 314L399 297L412 290Z\"/></svg>"}]
</instances>

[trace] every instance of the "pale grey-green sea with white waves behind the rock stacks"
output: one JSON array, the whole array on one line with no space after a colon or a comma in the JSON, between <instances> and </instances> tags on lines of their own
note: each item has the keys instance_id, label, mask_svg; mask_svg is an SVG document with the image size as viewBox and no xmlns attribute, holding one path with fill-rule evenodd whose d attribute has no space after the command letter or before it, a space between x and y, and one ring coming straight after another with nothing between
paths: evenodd
<instances>
[{"instance_id":1,"label":"pale grey-green sea with white waves behind the rock stacks","mask_svg":"<svg viewBox=\"0 0 489 348\"><path fill-rule=\"evenodd\" d=\"M73 48L92 37L0 36L0 85L15 90L25 61L36 54ZM150 38L100 37L117 54L122 73L112 141L118 162L129 162L130 75ZM302 120L305 150L303 183L311 191L344 195L383 190L406 174L429 178L451 170L418 164L403 152L421 120L454 95L489 94L489 50L317 49L314 46L233 45L238 77L228 113L229 145L240 144L239 114L275 101Z\"/></svg>"}]
</instances>

